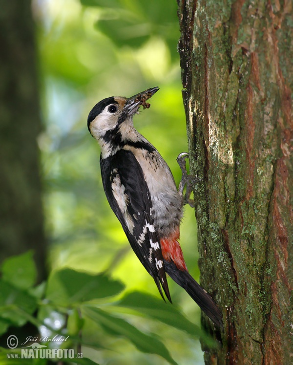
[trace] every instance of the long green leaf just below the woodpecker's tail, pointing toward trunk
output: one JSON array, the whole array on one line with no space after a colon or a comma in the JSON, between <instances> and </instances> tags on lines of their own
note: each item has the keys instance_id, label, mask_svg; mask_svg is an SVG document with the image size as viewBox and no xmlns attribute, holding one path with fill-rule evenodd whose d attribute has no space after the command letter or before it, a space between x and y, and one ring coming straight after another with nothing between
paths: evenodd
<instances>
[{"instance_id":1,"label":"long green leaf just below the woodpecker's tail, pointing toward trunk","mask_svg":"<svg viewBox=\"0 0 293 365\"><path fill-rule=\"evenodd\" d=\"M199 338L202 336L201 329L190 322L172 304L141 292L131 292L126 294L118 302L121 307L134 309L150 318L164 322L172 327L188 332L189 335Z\"/></svg>"}]
</instances>

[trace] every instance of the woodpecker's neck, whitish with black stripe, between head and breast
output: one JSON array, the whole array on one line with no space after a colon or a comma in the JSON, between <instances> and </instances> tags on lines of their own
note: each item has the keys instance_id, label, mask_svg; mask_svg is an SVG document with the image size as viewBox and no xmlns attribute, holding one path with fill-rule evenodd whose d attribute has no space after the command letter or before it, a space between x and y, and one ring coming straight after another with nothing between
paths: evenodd
<instances>
[{"instance_id":1,"label":"woodpecker's neck, whitish with black stripe, between head and breast","mask_svg":"<svg viewBox=\"0 0 293 365\"><path fill-rule=\"evenodd\" d=\"M147 139L134 127L132 116L113 129L107 130L103 135L94 136L101 146L102 158L114 155L125 146L133 146L139 149L153 149Z\"/></svg>"}]
</instances>

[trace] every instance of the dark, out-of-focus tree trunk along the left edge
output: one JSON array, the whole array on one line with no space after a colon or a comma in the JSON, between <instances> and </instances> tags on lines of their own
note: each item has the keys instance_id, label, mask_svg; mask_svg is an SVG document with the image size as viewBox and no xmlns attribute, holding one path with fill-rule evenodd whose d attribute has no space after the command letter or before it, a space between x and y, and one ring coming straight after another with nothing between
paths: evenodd
<instances>
[{"instance_id":1,"label":"dark, out-of-focus tree trunk along the left edge","mask_svg":"<svg viewBox=\"0 0 293 365\"><path fill-rule=\"evenodd\" d=\"M34 249L45 277L35 26L30 0L0 0L0 260Z\"/></svg>"}]
</instances>

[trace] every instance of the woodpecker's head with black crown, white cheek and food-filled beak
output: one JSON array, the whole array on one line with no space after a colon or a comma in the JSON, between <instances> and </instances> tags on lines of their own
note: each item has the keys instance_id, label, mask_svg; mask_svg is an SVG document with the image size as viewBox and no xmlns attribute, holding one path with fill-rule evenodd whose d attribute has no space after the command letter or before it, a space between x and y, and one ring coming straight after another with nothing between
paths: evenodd
<instances>
[{"instance_id":1,"label":"woodpecker's head with black crown, white cheek and food-filled beak","mask_svg":"<svg viewBox=\"0 0 293 365\"><path fill-rule=\"evenodd\" d=\"M99 142L102 153L119 147L128 138L137 138L133 128L132 117L140 106L148 108L149 99L159 87L149 88L139 94L125 98L111 96L101 100L90 111L87 127L91 135Z\"/></svg>"}]
</instances>

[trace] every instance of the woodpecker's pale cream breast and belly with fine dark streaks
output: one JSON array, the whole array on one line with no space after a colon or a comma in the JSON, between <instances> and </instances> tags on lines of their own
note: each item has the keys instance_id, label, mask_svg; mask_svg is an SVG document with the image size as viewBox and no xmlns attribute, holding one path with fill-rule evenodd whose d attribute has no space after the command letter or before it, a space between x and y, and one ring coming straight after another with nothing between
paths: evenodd
<instances>
[{"instance_id":1,"label":"woodpecker's pale cream breast and belly with fine dark streaks","mask_svg":"<svg viewBox=\"0 0 293 365\"><path fill-rule=\"evenodd\" d=\"M183 197L177 192L173 175L157 150L149 152L125 146L140 164L152 200L154 225L160 237L178 228L182 218Z\"/></svg>"}]
</instances>

